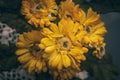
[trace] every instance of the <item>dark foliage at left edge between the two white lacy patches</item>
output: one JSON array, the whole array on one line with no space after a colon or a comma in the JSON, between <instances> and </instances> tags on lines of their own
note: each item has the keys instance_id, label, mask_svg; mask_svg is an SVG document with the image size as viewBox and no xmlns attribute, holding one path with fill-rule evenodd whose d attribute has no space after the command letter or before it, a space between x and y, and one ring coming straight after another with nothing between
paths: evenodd
<instances>
[{"instance_id":1,"label":"dark foliage at left edge between the two white lacy patches","mask_svg":"<svg viewBox=\"0 0 120 80\"><path fill-rule=\"evenodd\" d=\"M0 72L18 67L19 62L15 50L15 44L10 44L10 46L0 44Z\"/></svg>"}]
</instances>

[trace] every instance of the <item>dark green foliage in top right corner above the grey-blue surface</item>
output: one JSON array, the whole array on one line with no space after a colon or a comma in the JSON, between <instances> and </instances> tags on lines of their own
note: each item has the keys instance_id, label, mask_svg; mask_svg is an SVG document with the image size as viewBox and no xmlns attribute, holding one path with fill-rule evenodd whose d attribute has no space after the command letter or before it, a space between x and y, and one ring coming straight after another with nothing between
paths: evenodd
<instances>
[{"instance_id":1,"label":"dark green foliage in top right corner above the grey-blue surface","mask_svg":"<svg viewBox=\"0 0 120 80\"><path fill-rule=\"evenodd\" d=\"M86 11L92 7L98 13L120 12L120 0L73 0L75 3L80 4L80 7Z\"/></svg>"}]
</instances>

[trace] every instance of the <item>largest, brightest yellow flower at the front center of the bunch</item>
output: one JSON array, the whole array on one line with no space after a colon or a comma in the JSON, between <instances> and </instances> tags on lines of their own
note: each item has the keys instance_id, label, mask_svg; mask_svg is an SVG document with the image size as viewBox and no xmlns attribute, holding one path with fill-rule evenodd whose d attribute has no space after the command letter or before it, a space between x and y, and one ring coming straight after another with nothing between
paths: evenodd
<instances>
[{"instance_id":1,"label":"largest, brightest yellow flower at the front center of the bunch","mask_svg":"<svg viewBox=\"0 0 120 80\"><path fill-rule=\"evenodd\" d=\"M84 32L80 32L79 27L79 23L62 19L58 26L52 24L50 29L43 29L45 37L41 39L39 47L45 50L44 57L48 58L49 67L62 70L73 66L80 70L79 63L86 60L84 53L88 49L76 39L78 35L84 36Z\"/></svg>"}]
</instances>

